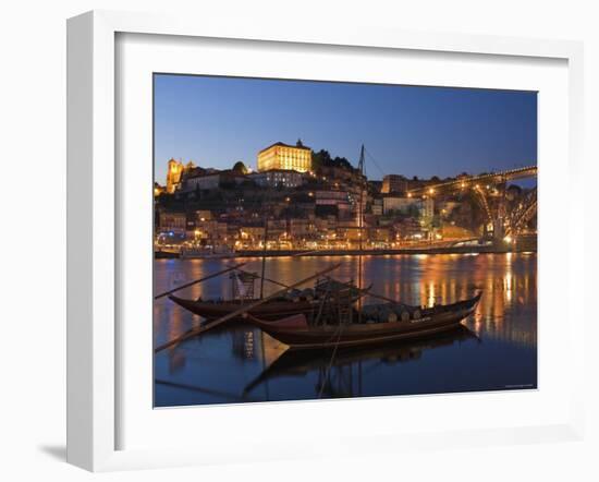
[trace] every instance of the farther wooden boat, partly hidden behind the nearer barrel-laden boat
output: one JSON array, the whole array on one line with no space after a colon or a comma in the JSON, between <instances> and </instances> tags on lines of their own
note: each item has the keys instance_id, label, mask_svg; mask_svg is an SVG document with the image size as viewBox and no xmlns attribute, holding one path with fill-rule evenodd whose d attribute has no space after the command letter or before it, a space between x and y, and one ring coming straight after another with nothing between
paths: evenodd
<instances>
[{"instance_id":1,"label":"farther wooden boat, partly hidden behind the nearer barrel-laden boat","mask_svg":"<svg viewBox=\"0 0 599 482\"><path fill-rule=\"evenodd\" d=\"M350 298L350 302L357 301L368 292L368 289L358 289L353 284L325 279L319 280L314 289L291 290L289 293L285 293L285 296L269 300L249 310L248 315L265 322L281 320L297 314L313 316L313 314L319 310L322 297L331 290L337 290L338 292L344 291ZM199 298L197 300L190 300L173 294L170 294L169 299L180 306L183 306L185 310L203 316L208 321L227 316L243 308L244 304L249 305L259 301L257 298L235 298L233 300L203 300ZM239 316L234 320L241 321L244 318L245 316Z\"/></svg>"}]
</instances>

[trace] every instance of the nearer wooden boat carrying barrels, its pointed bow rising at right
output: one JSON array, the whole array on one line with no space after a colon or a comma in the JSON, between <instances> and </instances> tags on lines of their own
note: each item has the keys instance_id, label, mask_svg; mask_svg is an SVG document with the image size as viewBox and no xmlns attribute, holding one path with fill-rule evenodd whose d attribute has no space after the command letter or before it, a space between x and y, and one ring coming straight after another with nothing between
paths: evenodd
<instances>
[{"instance_id":1,"label":"nearer wooden boat carrying barrels, its pointed bow rising at right","mask_svg":"<svg viewBox=\"0 0 599 482\"><path fill-rule=\"evenodd\" d=\"M330 347L349 348L384 344L394 340L430 336L455 328L474 313L481 292L468 300L447 305L414 310L409 320L374 322L367 316L352 316L358 322L309 324L303 314L277 322L265 322L248 314L246 320L291 350L310 350ZM414 316L416 315L416 316Z\"/></svg>"}]
</instances>

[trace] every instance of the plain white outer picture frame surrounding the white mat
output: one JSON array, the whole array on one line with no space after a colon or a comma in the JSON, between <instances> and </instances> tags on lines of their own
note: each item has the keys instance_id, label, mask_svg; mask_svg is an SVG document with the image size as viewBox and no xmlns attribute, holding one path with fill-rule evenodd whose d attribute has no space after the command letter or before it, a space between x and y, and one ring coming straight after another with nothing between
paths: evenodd
<instances>
[{"instance_id":1,"label":"plain white outer picture frame surrounding the white mat","mask_svg":"<svg viewBox=\"0 0 599 482\"><path fill-rule=\"evenodd\" d=\"M155 34L178 37L262 40L313 46L402 49L414 52L463 52L482 56L547 58L567 62L569 159L564 169L575 185L582 176L583 47L579 43L491 36L421 34L376 28L330 28L326 32L259 22L232 24L215 19L182 19L120 12L89 12L68 23L68 460L87 470L171 467L225 461L218 454L196 449L118 449L117 410L119 376L118 311L119 220L115 130L115 37L118 34ZM149 162L149 160L148 160ZM569 205L570 239L583 239L583 209ZM582 279L582 250L567 250L569 281ZM571 290L570 300L574 300ZM570 303L570 347L584 345L584 313ZM149 323L149 322L148 322ZM122 348L122 347L121 347ZM570 348L573 350L573 348ZM572 352L572 366L582 366L583 353ZM148 353L148 357L150 354ZM567 422L517 425L503 430L466 430L413 433L401 437L372 434L371 450L430 449L460 446L579 439L584 429L583 370L573 373L572 410ZM368 401L365 401L368 402ZM314 410L314 409L313 409ZM335 446L290 447L295 456L352 454L355 448L341 436ZM270 458L290 457L262 435L260 446L274 448ZM243 449L237 454L244 459ZM252 451L248 449L247 459ZM268 459L267 457L266 459Z\"/></svg>"}]
</instances>

